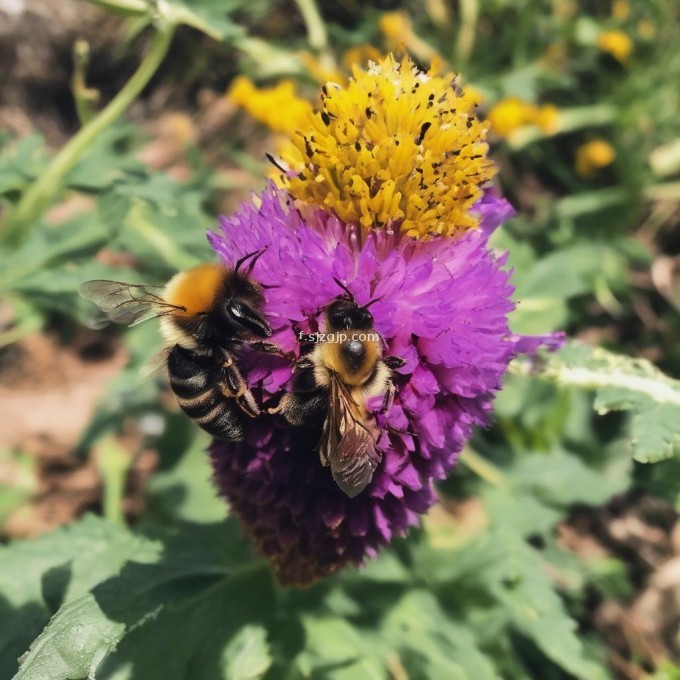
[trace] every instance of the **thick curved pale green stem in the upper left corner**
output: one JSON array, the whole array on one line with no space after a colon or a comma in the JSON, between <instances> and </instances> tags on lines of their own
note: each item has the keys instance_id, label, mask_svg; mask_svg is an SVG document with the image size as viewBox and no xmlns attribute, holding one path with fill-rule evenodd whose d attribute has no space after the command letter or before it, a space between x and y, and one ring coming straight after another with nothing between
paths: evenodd
<instances>
[{"instance_id":1,"label":"thick curved pale green stem in the upper left corner","mask_svg":"<svg viewBox=\"0 0 680 680\"><path fill-rule=\"evenodd\" d=\"M61 189L64 177L83 152L123 114L151 80L168 51L174 32L173 24L163 24L156 28L149 51L123 89L95 118L71 137L52 159L43 175L24 192L16 208L7 217L5 228L0 232L0 243L18 245L28 236L37 219Z\"/></svg>"}]
</instances>

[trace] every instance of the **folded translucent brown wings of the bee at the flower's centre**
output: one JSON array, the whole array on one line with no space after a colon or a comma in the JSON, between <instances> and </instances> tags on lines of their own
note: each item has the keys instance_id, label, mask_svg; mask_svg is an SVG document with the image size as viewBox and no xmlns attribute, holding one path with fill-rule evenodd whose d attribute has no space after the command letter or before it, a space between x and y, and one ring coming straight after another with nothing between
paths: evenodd
<instances>
[{"instance_id":1,"label":"folded translucent brown wings of the bee at the flower's centre","mask_svg":"<svg viewBox=\"0 0 680 680\"><path fill-rule=\"evenodd\" d=\"M371 431L355 417L356 404L337 376L331 380L330 392L321 451L337 485L354 498L373 479L381 454Z\"/></svg>"}]
</instances>

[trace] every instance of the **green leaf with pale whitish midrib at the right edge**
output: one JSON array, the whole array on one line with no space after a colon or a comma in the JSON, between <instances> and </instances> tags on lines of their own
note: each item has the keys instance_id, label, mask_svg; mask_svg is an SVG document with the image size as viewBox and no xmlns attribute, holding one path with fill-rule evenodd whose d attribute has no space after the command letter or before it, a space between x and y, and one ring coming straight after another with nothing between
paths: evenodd
<instances>
[{"instance_id":1,"label":"green leaf with pale whitish midrib at the right edge","mask_svg":"<svg viewBox=\"0 0 680 680\"><path fill-rule=\"evenodd\" d=\"M633 457L641 463L670 458L680 446L680 381L645 359L571 342L539 362L516 360L511 370L595 390L599 413L631 411Z\"/></svg>"}]
</instances>

